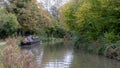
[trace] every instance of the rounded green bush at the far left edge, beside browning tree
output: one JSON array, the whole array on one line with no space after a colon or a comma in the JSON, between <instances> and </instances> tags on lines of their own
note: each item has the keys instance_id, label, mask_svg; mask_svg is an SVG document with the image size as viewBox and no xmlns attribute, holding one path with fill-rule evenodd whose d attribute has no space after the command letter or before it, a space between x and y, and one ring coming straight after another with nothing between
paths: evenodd
<instances>
[{"instance_id":1,"label":"rounded green bush at the far left edge, beside browning tree","mask_svg":"<svg viewBox=\"0 0 120 68\"><path fill-rule=\"evenodd\" d=\"M16 16L8 13L4 9L0 10L0 24L0 38L13 35L19 28Z\"/></svg>"}]
</instances>

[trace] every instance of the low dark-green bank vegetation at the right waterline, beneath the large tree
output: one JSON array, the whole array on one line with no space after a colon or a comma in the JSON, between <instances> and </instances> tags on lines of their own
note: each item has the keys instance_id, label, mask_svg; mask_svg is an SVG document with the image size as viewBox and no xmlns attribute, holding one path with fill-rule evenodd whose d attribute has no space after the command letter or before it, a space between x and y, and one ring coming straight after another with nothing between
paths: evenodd
<instances>
[{"instance_id":1,"label":"low dark-green bank vegetation at the right waterline, beneath the large tree","mask_svg":"<svg viewBox=\"0 0 120 68\"><path fill-rule=\"evenodd\" d=\"M90 41L75 43L75 48L89 53L102 55L110 59L120 61L120 41L115 43L105 43L103 41Z\"/></svg>"}]
</instances>

